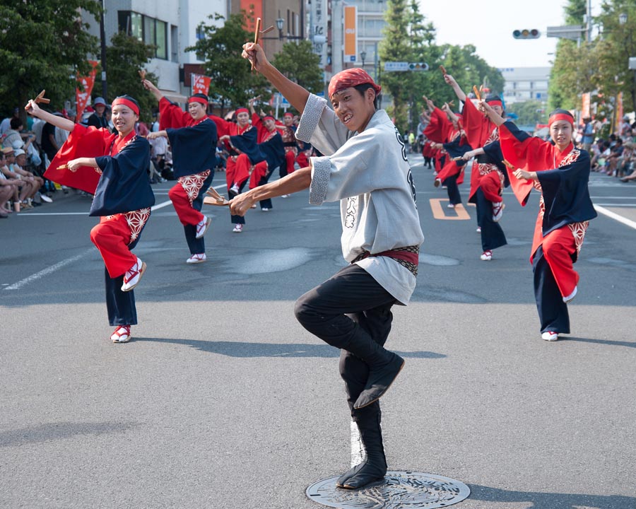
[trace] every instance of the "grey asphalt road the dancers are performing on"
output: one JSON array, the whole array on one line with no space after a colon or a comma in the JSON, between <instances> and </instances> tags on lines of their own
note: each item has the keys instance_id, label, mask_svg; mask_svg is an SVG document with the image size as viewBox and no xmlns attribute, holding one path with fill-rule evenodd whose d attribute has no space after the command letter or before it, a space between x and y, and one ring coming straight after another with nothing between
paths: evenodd
<instances>
[{"instance_id":1,"label":"grey asphalt road the dancers are performing on","mask_svg":"<svg viewBox=\"0 0 636 509\"><path fill-rule=\"evenodd\" d=\"M522 209L506 192L508 245L481 262L475 209L453 219L412 162L426 239L388 343L406 358L382 399L389 468L468 484L461 509L636 508L636 185L592 175L595 204L628 221L591 222L572 334L548 343L537 197ZM275 199L240 234L209 208L195 266L172 206L155 210L129 344L108 339L89 204L58 192L0 220L0 507L319 507L305 489L348 468L350 420L338 352L293 303L344 264L337 204Z\"/></svg>"}]
</instances>

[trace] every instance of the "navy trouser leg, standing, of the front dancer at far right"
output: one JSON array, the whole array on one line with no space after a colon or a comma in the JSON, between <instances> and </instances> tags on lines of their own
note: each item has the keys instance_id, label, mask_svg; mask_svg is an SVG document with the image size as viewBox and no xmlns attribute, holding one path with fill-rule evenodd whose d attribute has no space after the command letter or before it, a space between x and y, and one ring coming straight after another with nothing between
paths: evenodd
<instances>
[{"instance_id":1,"label":"navy trouser leg, standing, of the front dancer at far right","mask_svg":"<svg viewBox=\"0 0 636 509\"><path fill-rule=\"evenodd\" d=\"M552 269L543 256L543 246L539 246L532 258L534 273L534 299L541 322L541 332L570 334L570 315L567 304L557 286Z\"/></svg>"}]
</instances>

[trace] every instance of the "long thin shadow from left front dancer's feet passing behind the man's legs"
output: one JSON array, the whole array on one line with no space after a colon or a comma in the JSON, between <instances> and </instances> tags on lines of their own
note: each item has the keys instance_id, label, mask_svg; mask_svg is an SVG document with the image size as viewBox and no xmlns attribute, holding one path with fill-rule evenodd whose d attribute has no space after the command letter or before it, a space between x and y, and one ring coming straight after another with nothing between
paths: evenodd
<instances>
[{"instance_id":1,"label":"long thin shadow from left front dancer's feet passing behind the man's legs","mask_svg":"<svg viewBox=\"0 0 636 509\"><path fill-rule=\"evenodd\" d=\"M152 341L192 346L198 350L218 353L228 357L339 357L338 349L327 344L304 343L247 343L245 341L200 341L198 339L168 339L134 337L134 341ZM442 353L429 351L402 352L395 351L406 358L444 358Z\"/></svg>"}]
</instances>

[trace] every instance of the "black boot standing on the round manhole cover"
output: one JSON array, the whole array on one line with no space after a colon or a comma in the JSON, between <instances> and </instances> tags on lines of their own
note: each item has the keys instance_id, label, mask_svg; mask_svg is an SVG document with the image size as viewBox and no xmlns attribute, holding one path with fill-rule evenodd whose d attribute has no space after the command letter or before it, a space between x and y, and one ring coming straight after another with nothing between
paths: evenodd
<instances>
[{"instance_id":1,"label":"black boot standing on the round manhole cover","mask_svg":"<svg viewBox=\"0 0 636 509\"><path fill-rule=\"evenodd\" d=\"M380 414L369 420L358 419L356 422L360 437L365 446L365 459L362 463L349 469L336 481L338 488L358 489L384 479L387 473L387 459L384 457L382 445L382 428Z\"/></svg>"}]
</instances>

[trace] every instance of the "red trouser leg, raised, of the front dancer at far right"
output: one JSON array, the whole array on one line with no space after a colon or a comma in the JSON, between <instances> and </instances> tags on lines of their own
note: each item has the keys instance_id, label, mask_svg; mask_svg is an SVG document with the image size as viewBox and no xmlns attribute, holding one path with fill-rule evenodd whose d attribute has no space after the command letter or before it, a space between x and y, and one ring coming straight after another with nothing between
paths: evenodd
<instances>
[{"instance_id":1,"label":"red trouser leg, raised, of the front dancer at far right","mask_svg":"<svg viewBox=\"0 0 636 509\"><path fill-rule=\"evenodd\" d=\"M536 235L535 231L535 242ZM538 235L541 235L541 225L538 225ZM572 262L572 254L577 250L572 230L568 226L553 230L543 237L540 243L543 247L543 257L550 266L561 296L572 295L575 286L579 283L579 273L575 271ZM533 256L534 252L536 249L532 250Z\"/></svg>"}]
</instances>

